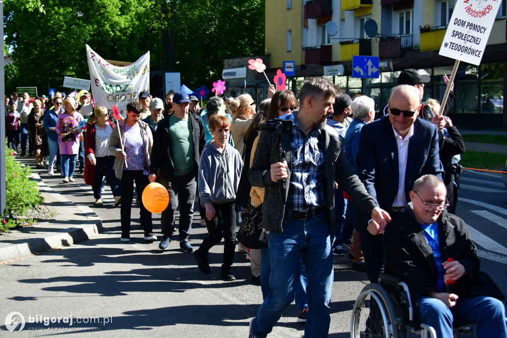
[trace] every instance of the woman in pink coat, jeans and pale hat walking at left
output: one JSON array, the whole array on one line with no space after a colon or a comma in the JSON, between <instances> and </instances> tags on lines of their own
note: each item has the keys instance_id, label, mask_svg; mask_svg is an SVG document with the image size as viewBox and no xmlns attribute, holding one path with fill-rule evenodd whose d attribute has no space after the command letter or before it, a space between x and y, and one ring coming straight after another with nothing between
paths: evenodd
<instances>
[{"instance_id":1,"label":"woman in pink coat, jeans and pale hat walking at left","mask_svg":"<svg viewBox=\"0 0 507 338\"><path fill-rule=\"evenodd\" d=\"M57 100L55 100L57 101ZM60 148L60 155L63 168L63 183L76 181L74 170L76 168L76 157L79 153L79 136L81 130L77 127L83 116L76 110L77 101L72 96L67 96L63 100L63 107L65 111L58 116L56 124L56 132L58 133L58 147Z\"/></svg>"}]
</instances>

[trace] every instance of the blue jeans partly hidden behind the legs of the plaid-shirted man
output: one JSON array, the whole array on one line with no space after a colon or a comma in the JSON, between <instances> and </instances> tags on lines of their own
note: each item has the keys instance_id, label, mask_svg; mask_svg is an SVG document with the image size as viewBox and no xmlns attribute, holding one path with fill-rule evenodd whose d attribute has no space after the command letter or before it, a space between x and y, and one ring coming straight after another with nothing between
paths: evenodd
<instances>
[{"instance_id":1,"label":"blue jeans partly hidden behind the legs of the plaid-shirted man","mask_svg":"<svg viewBox=\"0 0 507 338\"><path fill-rule=\"evenodd\" d=\"M269 255L269 248L261 249L261 290L262 299L266 299L269 294L273 291L269 286L269 279L271 276L271 256ZM295 285L295 299L296 307L298 311L303 310L308 306L308 298L306 297L306 285L308 281L306 279L305 265L303 260L299 264L299 282Z\"/></svg>"}]
</instances>

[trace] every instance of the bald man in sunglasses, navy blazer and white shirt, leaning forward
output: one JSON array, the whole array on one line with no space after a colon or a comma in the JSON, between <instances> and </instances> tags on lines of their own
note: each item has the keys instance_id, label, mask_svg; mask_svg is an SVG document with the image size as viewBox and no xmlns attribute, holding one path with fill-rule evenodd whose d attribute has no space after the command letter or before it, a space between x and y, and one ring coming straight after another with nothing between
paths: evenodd
<instances>
[{"instance_id":1,"label":"bald man in sunglasses, navy blazer and white shirt, leaning forward","mask_svg":"<svg viewBox=\"0 0 507 338\"><path fill-rule=\"evenodd\" d=\"M368 194L392 219L410 201L409 192L419 177L432 174L443 178L437 126L418 119L420 110L420 92L413 86L396 86L388 100L389 115L361 130L357 175ZM383 227L368 221L369 217L358 208L351 213L360 235L368 278L377 283L383 265Z\"/></svg>"}]
</instances>

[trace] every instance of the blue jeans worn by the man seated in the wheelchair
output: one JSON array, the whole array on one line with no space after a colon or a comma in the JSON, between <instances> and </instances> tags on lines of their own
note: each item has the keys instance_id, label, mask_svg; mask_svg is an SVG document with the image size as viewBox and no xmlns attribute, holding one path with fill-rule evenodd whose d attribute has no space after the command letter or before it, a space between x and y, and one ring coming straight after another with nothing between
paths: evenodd
<instances>
[{"instance_id":1,"label":"blue jeans worn by the man seated in the wheelchair","mask_svg":"<svg viewBox=\"0 0 507 338\"><path fill-rule=\"evenodd\" d=\"M431 325L439 338L453 336L453 320L477 324L478 338L507 338L505 308L496 298L459 296L450 309L437 298L419 296L417 302L421 320Z\"/></svg>"}]
</instances>

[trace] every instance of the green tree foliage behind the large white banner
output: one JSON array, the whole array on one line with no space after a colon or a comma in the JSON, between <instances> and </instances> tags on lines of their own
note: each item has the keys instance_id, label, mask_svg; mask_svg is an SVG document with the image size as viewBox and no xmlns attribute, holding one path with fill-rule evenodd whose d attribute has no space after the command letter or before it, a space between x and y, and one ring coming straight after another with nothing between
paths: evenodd
<instances>
[{"instance_id":1,"label":"green tree foliage behind the large white banner","mask_svg":"<svg viewBox=\"0 0 507 338\"><path fill-rule=\"evenodd\" d=\"M24 1L9 0L4 8L6 44L17 66L7 92L63 89L64 76L88 79L85 44L118 61L149 50L152 71L180 72L191 88L221 78L224 58L264 51L263 0Z\"/></svg>"}]
</instances>

